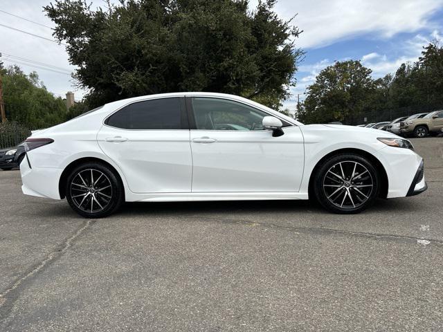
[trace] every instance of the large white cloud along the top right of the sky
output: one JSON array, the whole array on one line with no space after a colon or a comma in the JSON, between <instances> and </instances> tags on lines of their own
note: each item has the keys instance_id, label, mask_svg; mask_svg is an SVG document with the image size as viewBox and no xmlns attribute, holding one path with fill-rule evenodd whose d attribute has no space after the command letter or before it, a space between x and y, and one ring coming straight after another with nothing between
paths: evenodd
<instances>
[{"instance_id":1,"label":"large white cloud along the top right of the sky","mask_svg":"<svg viewBox=\"0 0 443 332\"><path fill-rule=\"evenodd\" d=\"M387 38L432 28L428 17L441 6L443 0L280 0L275 10L284 19L298 14L298 46L318 48L365 33Z\"/></svg>"}]
</instances>

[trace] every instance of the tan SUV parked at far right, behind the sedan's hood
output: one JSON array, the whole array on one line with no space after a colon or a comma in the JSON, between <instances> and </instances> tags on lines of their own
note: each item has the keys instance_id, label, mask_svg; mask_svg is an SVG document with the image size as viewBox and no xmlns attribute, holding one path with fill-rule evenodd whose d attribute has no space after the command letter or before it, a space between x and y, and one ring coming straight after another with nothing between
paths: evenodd
<instances>
[{"instance_id":1,"label":"tan SUV parked at far right, behind the sedan's hood","mask_svg":"<svg viewBox=\"0 0 443 332\"><path fill-rule=\"evenodd\" d=\"M405 135L412 134L422 138L438 135L443 129L443 110L428 113L423 118L406 119L400 122L400 131Z\"/></svg>"}]
</instances>

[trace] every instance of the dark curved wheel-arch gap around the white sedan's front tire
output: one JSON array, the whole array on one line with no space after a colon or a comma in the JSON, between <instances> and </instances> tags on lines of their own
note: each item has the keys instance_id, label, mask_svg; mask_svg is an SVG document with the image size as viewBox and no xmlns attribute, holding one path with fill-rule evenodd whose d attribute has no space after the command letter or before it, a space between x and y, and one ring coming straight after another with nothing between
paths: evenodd
<instances>
[{"instance_id":1,"label":"dark curved wheel-arch gap around the white sedan's front tire","mask_svg":"<svg viewBox=\"0 0 443 332\"><path fill-rule=\"evenodd\" d=\"M386 199L386 197L388 196L389 182L388 182L388 174L386 173L385 167L383 167L381 161L373 154L370 154L368 151L364 151L362 149L355 149L355 148L337 149L332 152L329 152L328 154L323 156L320 160L318 160L318 162L314 166L314 169L312 169L311 175L309 176L309 185L308 185L309 197L315 196L314 177L317 169L323 164L323 162L325 162L325 160L337 156L338 154L356 154L364 158L368 158L368 160L370 160L374 164L375 169L377 169L377 172L379 172L381 178L379 197Z\"/></svg>"}]
</instances>

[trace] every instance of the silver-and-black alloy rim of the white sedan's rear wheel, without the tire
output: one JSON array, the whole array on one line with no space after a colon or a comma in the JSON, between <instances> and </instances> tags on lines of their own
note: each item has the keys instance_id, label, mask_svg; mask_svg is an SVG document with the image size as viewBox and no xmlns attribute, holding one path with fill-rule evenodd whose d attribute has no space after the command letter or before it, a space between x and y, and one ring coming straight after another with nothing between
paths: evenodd
<instances>
[{"instance_id":1,"label":"silver-and-black alloy rim of the white sedan's rear wheel, without the tire","mask_svg":"<svg viewBox=\"0 0 443 332\"><path fill-rule=\"evenodd\" d=\"M111 181L98 169L83 169L75 174L70 190L73 203L87 213L105 210L112 199Z\"/></svg>"}]
</instances>

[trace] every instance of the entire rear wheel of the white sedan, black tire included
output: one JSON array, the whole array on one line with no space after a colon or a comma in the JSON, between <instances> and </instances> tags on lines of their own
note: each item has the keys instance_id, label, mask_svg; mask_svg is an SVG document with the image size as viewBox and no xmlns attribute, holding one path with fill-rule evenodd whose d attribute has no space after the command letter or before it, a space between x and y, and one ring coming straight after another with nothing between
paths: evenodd
<instances>
[{"instance_id":1,"label":"entire rear wheel of the white sedan, black tire included","mask_svg":"<svg viewBox=\"0 0 443 332\"><path fill-rule=\"evenodd\" d=\"M125 199L118 174L107 165L96 162L75 167L66 180L65 192L71 208L85 218L109 216Z\"/></svg>"}]
</instances>

